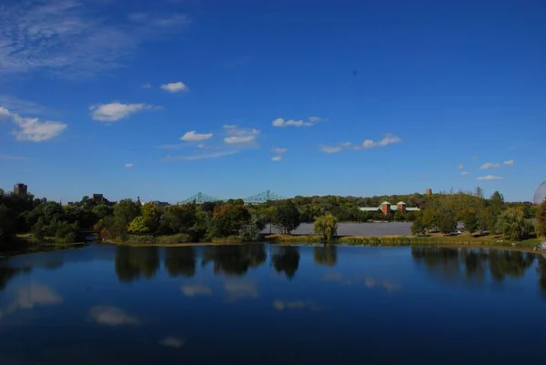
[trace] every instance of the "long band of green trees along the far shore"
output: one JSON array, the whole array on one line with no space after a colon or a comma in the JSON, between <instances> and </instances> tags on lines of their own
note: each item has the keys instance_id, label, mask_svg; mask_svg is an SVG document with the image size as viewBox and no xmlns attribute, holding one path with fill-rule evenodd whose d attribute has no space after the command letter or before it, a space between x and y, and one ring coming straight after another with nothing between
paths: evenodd
<instances>
[{"instance_id":1,"label":"long band of green trees along the far shore","mask_svg":"<svg viewBox=\"0 0 546 365\"><path fill-rule=\"evenodd\" d=\"M361 207L378 207L399 200L419 212L367 212ZM296 197L245 205L242 199L204 204L176 204L163 207L154 202L123 199L104 204L84 197L71 205L35 198L32 194L6 194L0 189L0 247L16 241L15 234L31 233L36 242L75 242L82 232L94 229L110 240L165 243L197 242L237 237L253 241L265 228L277 227L289 234L303 222L315 222L315 231L325 240L337 235L338 222L368 220L413 221L416 235L439 230L449 233L464 222L470 232L500 232L507 238L522 239L532 234L530 218L536 218L536 233L546 235L546 208L531 203L506 203L496 191L484 198L482 190L410 194L372 198Z\"/></svg>"}]
</instances>

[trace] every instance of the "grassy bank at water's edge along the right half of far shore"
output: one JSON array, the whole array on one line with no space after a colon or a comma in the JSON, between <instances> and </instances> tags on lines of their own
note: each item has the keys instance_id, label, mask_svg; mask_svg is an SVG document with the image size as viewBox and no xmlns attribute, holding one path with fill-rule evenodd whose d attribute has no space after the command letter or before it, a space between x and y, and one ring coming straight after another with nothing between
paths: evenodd
<instances>
[{"instance_id":1,"label":"grassy bank at water's edge along the right half of far shore","mask_svg":"<svg viewBox=\"0 0 546 365\"><path fill-rule=\"evenodd\" d=\"M294 244L313 244L321 241L318 235L270 235L265 240L272 243L294 243ZM338 244L349 246L488 246L502 248L534 248L541 243L538 238L527 239L524 241L510 241L495 237L473 238L471 236L461 237L414 237L414 236L384 236L384 237L360 237L346 236L340 237L336 241ZM513 243L513 244L512 244Z\"/></svg>"}]
</instances>

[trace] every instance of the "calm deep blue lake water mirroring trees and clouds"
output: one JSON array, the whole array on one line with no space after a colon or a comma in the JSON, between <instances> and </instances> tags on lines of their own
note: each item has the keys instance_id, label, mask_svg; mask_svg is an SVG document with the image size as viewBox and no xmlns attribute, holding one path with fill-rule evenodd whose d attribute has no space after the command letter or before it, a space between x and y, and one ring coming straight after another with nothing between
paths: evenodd
<instances>
[{"instance_id":1,"label":"calm deep blue lake water mirroring trees and clouds","mask_svg":"<svg viewBox=\"0 0 546 365\"><path fill-rule=\"evenodd\" d=\"M546 256L519 252L92 246L0 259L3 365L538 363L545 315Z\"/></svg>"}]
</instances>

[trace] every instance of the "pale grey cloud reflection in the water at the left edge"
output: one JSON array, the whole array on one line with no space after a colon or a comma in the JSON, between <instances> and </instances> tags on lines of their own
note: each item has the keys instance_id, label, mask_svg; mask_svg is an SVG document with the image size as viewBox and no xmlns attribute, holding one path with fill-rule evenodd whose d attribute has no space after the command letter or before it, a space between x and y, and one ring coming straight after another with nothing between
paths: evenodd
<instances>
[{"instance_id":1,"label":"pale grey cloud reflection in the water at the left edge","mask_svg":"<svg viewBox=\"0 0 546 365\"><path fill-rule=\"evenodd\" d=\"M60 304L63 299L45 285L30 284L26 288L18 289L15 300L5 310L0 309L0 319L19 309L34 309L36 306Z\"/></svg>"}]
</instances>

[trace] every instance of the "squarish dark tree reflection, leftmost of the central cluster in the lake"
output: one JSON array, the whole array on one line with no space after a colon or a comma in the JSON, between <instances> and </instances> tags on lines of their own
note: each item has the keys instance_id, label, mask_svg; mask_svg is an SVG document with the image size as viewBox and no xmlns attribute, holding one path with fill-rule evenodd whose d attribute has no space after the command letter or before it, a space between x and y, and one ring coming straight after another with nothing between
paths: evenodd
<instances>
[{"instance_id":1,"label":"squarish dark tree reflection, leftmost of the central cluster in the lake","mask_svg":"<svg viewBox=\"0 0 546 365\"><path fill-rule=\"evenodd\" d=\"M153 279L157 269L159 269L157 247L116 248L116 274L119 281L129 283L140 279L141 276Z\"/></svg>"}]
</instances>

